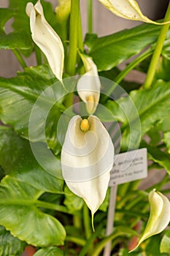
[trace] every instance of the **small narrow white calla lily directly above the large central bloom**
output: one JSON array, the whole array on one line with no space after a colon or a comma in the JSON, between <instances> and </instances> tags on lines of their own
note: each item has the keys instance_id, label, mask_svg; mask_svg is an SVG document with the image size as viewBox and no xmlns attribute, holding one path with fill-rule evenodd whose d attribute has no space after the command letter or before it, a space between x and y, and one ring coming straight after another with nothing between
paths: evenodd
<instances>
[{"instance_id":1,"label":"small narrow white calla lily directly above the large central bloom","mask_svg":"<svg viewBox=\"0 0 170 256\"><path fill-rule=\"evenodd\" d=\"M80 56L85 67L85 74L78 80L77 92L82 101L86 103L88 113L93 114L100 98L101 83L93 60L84 54Z\"/></svg>"}]
</instances>

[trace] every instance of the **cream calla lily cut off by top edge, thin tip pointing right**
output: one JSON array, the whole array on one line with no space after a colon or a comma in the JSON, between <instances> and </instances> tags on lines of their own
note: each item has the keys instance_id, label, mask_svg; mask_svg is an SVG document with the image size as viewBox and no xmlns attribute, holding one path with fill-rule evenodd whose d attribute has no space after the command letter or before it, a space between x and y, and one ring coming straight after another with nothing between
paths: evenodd
<instances>
[{"instance_id":1,"label":"cream calla lily cut off by top edge, thin tip pointing right","mask_svg":"<svg viewBox=\"0 0 170 256\"><path fill-rule=\"evenodd\" d=\"M139 5L135 0L98 0L104 5L108 10L113 12L115 15L128 20L140 20L146 23L153 23L156 25L161 25L165 23L157 23L153 20L147 18L141 12Z\"/></svg>"}]
</instances>

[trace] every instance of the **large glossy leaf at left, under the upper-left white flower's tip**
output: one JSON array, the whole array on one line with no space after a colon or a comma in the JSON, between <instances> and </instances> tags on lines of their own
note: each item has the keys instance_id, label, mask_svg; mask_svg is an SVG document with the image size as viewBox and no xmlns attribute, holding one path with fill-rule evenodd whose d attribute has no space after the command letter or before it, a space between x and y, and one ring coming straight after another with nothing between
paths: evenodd
<instances>
[{"instance_id":1,"label":"large glossy leaf at left, under the upper-left white flower's tip","mask_svg":"<svg viewBox=\"0 0 170 256\"><path fill-rule=\"evenodd\" d=\"M65 94L63 86L57 82L47 65L27 68L16 78L0 78L0 118L24 138L34 142L53 140L56 144L55 124L61 116L61 102ZM50 112L53 105L55 113ZM53 113L55 118L49 118L45 123L49 113ZM32 127L29 134L28 125ZM45 127L55 127L53 138L50 138L49 130L45 138Z\"/></svg>"}]
</instances>

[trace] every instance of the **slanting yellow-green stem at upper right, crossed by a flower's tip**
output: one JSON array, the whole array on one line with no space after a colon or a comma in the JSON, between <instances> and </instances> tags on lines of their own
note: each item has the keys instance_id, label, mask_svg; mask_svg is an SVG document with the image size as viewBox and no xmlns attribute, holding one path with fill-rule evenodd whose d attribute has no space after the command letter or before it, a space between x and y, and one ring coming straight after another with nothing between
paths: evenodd
<instances>
[{"instance_id":1,"label":"slanting yellow-green stem at upper right, crossed by a flower's tip","mask_svg":"<svg viewBox=\"0 0 170 256\"><path fill-rule=\"evenodd\" d=\"M169 7L166 11L166 16L164 18L164 22L169 21L169 20L170 20L170 2L169 2ZM152 59L150 61L150 67L147 71L147 77L146 77L146 80L144 82L144 88L146 88L146 89L150 89L150 86L152 85L152 80L155 76L158 60L161 56L161 51L162 51L162 48L163 48L163 42L166 39L166 34L167 34L168 30L169 30L169 24L162 25L161 31L160 31L160 34L159 34L159 37L158 37L158 41L157 41L157 44L155 46L155 50L154 50L154 53L152 55Z\"/></svg>"}]
</instances>

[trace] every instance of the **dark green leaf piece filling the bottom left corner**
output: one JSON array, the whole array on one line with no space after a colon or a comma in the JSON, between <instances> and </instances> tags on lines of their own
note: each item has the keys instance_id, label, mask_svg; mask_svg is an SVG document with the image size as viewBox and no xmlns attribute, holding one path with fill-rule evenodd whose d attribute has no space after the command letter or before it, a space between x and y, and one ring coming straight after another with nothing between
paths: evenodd
<instances>
[{"instance_id":1,"label":"dark green leaf piece filling the bottom left corner","mask_svg":"<svg viewBox=\"0 0 170 256\"><path fill-rule=\"evenodd\" d=\"M0 255L18 256L23 252L25 246L25 242L15 238L3 226L0 226Z\"/></svg>"}]
</instances>

